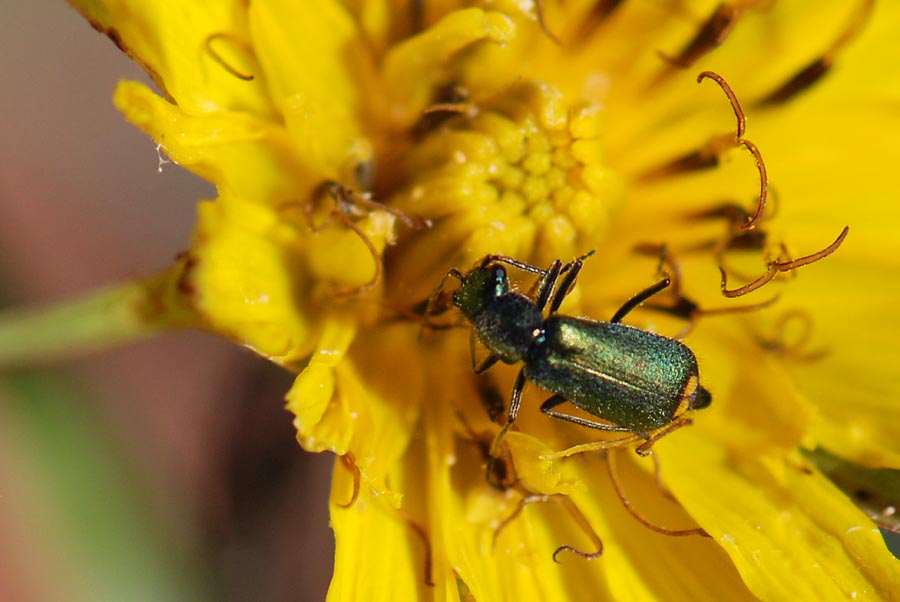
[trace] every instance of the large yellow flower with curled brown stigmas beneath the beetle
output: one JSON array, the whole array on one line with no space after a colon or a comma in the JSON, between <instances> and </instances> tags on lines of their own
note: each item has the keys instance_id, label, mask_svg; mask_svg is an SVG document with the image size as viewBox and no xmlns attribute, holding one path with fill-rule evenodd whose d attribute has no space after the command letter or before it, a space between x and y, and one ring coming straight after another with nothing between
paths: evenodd
<instances>
[{"instance_id":1,"label":"large yellow flower with curled brown stigmas beneath the beetle","mask_svg":"<svg viewBox=\"0 0 900 602\"><path fill-rule=\"evenodd\" d=\"M298 440L342 458L329 599L900 591L878 529L800 453L900 468L900 5L72 3L159 86L123 82L116 105L218 187L137 321L206 328L297 371ZM704 70L746 127L697 85ZM740 286L845 224L839 249L748 297L753 311L704 314L742 304L721 296L720 263ZM543 415L536 387L488 462L499 429L482 405L518 367L476 377L466 330L420 337L444 274L596 249L562 313L609 319L658 279L662 245L682 293L660 297L699 305L685 343L713 397L654 446L671 499L636 454L611 452L621 483L600 453L555 454L598 434ZM676 318L627 321L674 336ZM652 532L619 486L653 523L710 537ZM600 558L554 555L598 539Z\"/></svg>"}]
</instances>

